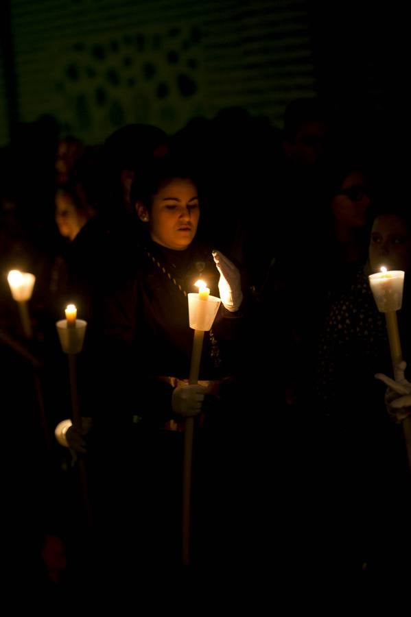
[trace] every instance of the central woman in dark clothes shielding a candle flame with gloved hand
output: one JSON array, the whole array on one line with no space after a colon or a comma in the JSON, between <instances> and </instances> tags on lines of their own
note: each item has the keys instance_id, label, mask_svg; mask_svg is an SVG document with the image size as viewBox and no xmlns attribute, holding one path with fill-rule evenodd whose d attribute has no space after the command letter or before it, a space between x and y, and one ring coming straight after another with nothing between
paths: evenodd
<instances>
[{"instance_id":1,"label":"central woman in dark clothes shielding a candle flame with gloved hand","mask_svg":"<svg viewBox=\"0 0 411 617\"><path fill-rule=\"evenodd\" d=\"M118 485L113 489L120 503L126 498L130 503L121 513L115 511L116 520L127 512L141 516L140 524L150 528L147 537L157 546L158 553L145 546L137 557L178 562L181 433L165 429L177 428L180 418L204 411L197 470L204 472L207 465L202 480L210 496L211 479L215 487L221 487L226 479L223 436L231 428L231 412L237 411L235 374L242 360L242 289L235 265L196 241L198 188L185 165L172 158L157 161L144 178L134 182L131 196L141 231L134 261L110 277L102 315L104 332L95 337L93 350L89 349L88 376L98 383L98 389L89 388L86 407L89 411L93 408L96 448L104 454L108 442L115 441L118 446L114 459L121 474L117 477L125 485L121 494ZM189 328L187 293L198 291L195 283L199 278L207 282L211 295L221 296L222 306L211 332L204 335L200 384L189 385L193 330ZM113 473L110 465L105 479ZM100 465L99 474L101 469ZM136 469L143 470L137 489L143 503L137 512L134 494L128 494ZM105 483L101 488L105 489ZM153 504L157 505L154 510ZM217 522L210 518L208 524L215 529ZM132 520L126 529L132 529Z\"/></svg>"}]
</instances>

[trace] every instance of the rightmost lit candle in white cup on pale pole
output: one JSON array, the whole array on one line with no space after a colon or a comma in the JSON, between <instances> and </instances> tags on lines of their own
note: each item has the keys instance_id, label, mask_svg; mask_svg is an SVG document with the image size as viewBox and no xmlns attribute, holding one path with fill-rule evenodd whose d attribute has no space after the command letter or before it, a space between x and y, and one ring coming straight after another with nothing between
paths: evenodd
<instances>
[{"instance_id":1,"label":"rightmost lit candle in white cup on pale pole","mask_svg":"<svg viewBox=\"0 0 411 617\"><path fill-rule=\"evenodd\" d=\"M377 309L380 313L384 313L386 317L386 328L394 379L397 378L397 366L402 361L397 311L399 311L402 306L404 276L405 272L403 270L387 271L384 267L381 268L381 272L368 276ZM408 415L401 424L406 442L408 465L411 470L411 416Z\"/></svg>"}]
</instances>

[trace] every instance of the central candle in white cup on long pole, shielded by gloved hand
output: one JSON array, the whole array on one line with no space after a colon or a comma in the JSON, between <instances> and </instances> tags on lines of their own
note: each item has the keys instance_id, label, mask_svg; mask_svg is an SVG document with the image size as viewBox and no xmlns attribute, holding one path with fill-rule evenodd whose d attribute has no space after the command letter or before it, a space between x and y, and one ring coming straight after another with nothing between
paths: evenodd
<instances>
[{"instance_id":1,"label":"central candle in white cup on long pole, shielded by gloved hand","mask_svg":"<svg viewBox=\"0 0 411 617\"><path fill-rule=\"evenodd\" d=\"M207 288L206 288L207 289ZM198 383L204 332L211 330L215 316L221 304L220 298L204 294L204 287L199 293L188 293L189 326L194 330L193 351L189 372L189 384ZM184 463L183 463L183 565L190 563L190 506L191 506L191 461L193 458L194 418L185 420Z\"/></svg>"}]
</instances>

